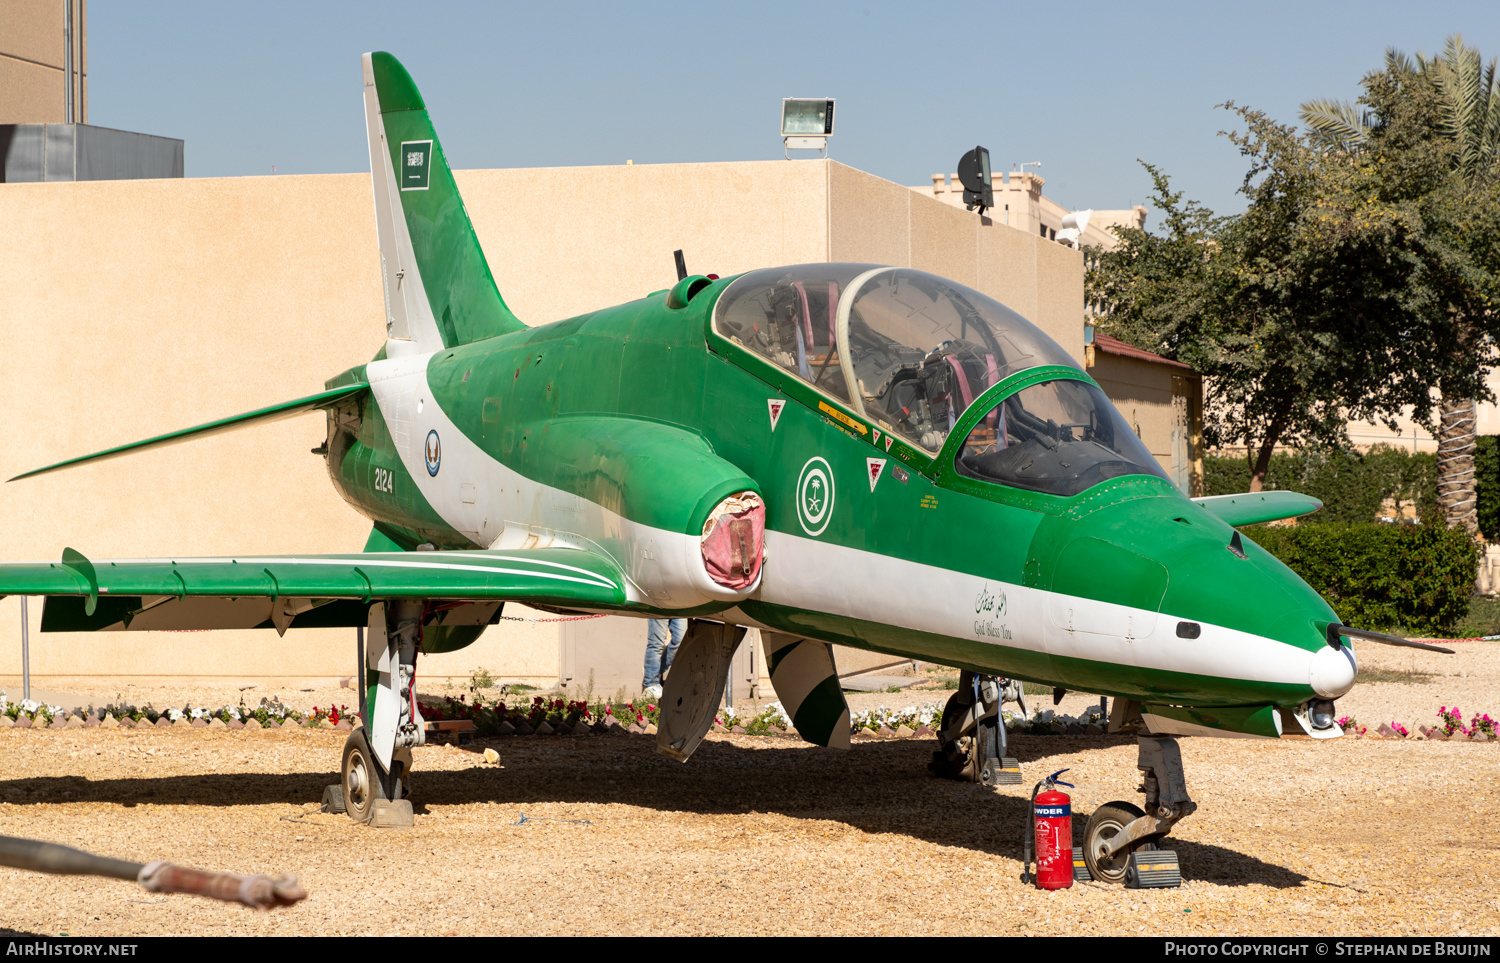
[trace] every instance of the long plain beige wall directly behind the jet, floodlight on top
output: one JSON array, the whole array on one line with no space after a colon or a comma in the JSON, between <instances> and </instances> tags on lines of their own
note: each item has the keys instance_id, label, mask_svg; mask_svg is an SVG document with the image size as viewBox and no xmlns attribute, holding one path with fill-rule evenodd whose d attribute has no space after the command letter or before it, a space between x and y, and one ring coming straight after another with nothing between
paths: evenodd
<instances>
[{"instance_id":1,"label":"long plain beige wall directly behind the jet, floodlight on top","mask_svg":"<svg viewBox=\"0 0 1500 963\"><path fill-rule=\"evenodd\" d=\"M532 324L668 286L681 248L690 270L720 274L914 264L1038 316L1082 356L1077 252L832 162L459 171L458 183L501 291ZM381 344L368 174L0 184L0 477L315 392ZM0 484L0 556L357 549L369 526L309 453L322 434L321 416L303 416ZM0 602L0 684L20 674L18 609ZM332 680L354 664L352 630L42 636L39 622L38 602L38 684ZM644 638L626 628L630 645ZM422 674L484 666L552 684L561 638L556 622L504 621Z\"/></svg>"}]
</instances>

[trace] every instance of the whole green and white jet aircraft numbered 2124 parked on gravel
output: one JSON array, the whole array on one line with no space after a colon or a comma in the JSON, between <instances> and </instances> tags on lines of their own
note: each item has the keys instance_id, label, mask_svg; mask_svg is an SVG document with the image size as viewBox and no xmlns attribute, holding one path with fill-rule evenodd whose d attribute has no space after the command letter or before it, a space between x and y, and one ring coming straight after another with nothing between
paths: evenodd
<instances>
[{"instance_id":1,"label":"whole green and white jet aircraft numbered 2124 parked on gravel","mask_svg":"<svg viewBox=\"0 0 1500 963\"><path fill-rule=\"evenodd\" d=\"M684 276L526 327L501 298L426 105L366 54L387 340L322 392L21 478L266 420L327 412L363 552L0 566L44 632L368 627L351 816L402 802L423 742L418 652L468 645L508 600L690 616L663 753L686 760L759 628L802 738L849 744L831 644L956 666L933 770L1018 782L1000 705L1018 680L1114 699L1140 732L1148 812L1090 820L1095 878L1192 812L1173 735L1334 738L1350 636L1233 525L1290 492L1190 500L1056 342L922 272L801 264ZM1006 765L1011 762L1010 765ZM376 820L378 822L378 820Z\"/></svg>"}]
</instances>

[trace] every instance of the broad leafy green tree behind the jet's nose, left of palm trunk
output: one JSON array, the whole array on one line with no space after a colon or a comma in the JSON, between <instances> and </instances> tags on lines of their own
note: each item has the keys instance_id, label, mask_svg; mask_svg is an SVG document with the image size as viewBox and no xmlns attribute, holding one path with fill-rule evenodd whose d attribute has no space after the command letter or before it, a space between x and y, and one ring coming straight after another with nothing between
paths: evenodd
<instances>
[{"instance_id":1,"label":"broad leafy green tree behind the jet's nose, left of palm trunk","mask_svg":"<svg viewBox=\"0 0 1500 963\"><path fill-rule=\"evenodd\" d=\"M1116 249L1090 252L1088 288L1101 332L1208 376L1204 441L1244 447L1260 490L1278 446L1346 447L1348 417L1430 405L1455 350L1406 303L1424 272L1410 218L1371 202L1347 154L1226 106L1245 124L1227 134L1250 160L1245 213L1184 201L1146 165L1162 230L1116 230Z\"/></svg>"}]
</instances>

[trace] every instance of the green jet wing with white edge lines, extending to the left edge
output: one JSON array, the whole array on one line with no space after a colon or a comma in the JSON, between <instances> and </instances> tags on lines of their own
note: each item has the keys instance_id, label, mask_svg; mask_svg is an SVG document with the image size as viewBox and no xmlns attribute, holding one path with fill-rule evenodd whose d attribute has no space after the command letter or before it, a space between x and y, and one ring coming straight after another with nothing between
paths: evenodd
<instances>
[{"instance_id":1,"label":"green jet wing with white edge lines, extending to the left edge","mask_svg":"<svg viewBox=\"0 0 1500 963\"><path fill-rule=\"evenodd\" d=\"M46 596L42 632L364 626L370 602L430 598L440 624L486 624L504 602L626 608L626 579L582 549L351 552L0 564L0 596Z\"/></svg>"}]
</instances>

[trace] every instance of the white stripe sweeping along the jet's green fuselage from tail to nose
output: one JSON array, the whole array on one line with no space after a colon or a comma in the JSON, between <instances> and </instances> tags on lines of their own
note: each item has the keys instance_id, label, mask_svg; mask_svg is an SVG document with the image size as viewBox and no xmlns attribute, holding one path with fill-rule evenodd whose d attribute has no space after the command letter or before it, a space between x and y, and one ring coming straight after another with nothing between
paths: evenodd
<instances>
[{"instance_id":1,"label":"white stripe sweeping along the jet's green fuselage from tail to nose","mask_svg":"<svg viewBox=\"0 0 1500 963\"><path fill-rule=\"evenodd\" d=\"M702 574L699 538L632 522L572 492L525 478L470 441L432 400L426 381L429 357L375 362L368 370L392 435L406 438L398 452L408 476L448 525L477 544L496 549L520 548L536 537L538 544L600 552L626 573L632 602L663 609L711 602L734 604L736 596L699 588L717 588ZM442 444L436 477L428 476L423 460L422 446L429 430L436 430ZM464 484L476 488L472 504L462 501ZM645 552L656 556L660 576L674 586L670 597L651 597L642 590L652 564ZM684 585L699 591L684 591ZM1311 670L1311 654L1305 650L1234 628L1198 622L1197 639L1179 639L1180 620L1166 612L988 580L780 531L766 531L765 574L750 597L952 639L1142 669L1294 686L1306 686Z\"/></svg>"}]
</instances>

